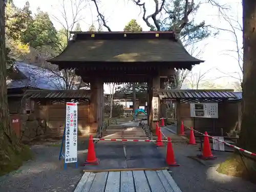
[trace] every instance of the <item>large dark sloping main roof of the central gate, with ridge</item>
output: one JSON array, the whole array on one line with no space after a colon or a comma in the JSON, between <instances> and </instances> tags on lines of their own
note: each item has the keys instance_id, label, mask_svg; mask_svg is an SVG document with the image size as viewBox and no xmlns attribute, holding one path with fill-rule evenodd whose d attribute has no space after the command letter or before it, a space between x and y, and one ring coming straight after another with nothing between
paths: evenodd
<instances>
[{"instance_id":1,"label":"large dark sloping main roof of the central gate, with ridge","mask_svg":"<svg viewBox=\"0 0 256 192\"><path fill-rule=\"evenodd\" d=\"M74 39L49 62L203 62L191 56L172 31L71 33Z\"/></svg>"}]
</instances>

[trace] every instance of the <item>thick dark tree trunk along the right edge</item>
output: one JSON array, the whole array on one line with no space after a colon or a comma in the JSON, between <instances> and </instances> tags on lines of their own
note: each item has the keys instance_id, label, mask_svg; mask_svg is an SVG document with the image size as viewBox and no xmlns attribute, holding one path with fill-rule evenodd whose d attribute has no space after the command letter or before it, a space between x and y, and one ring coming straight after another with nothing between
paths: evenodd
<instances>
[{"instance_id":1,"label":"thick dark tree trunk along the right edge","mask_svg":"<svg viewBox=\"0 0 256 192\"><path fill-rule=\"evenodd\" d=\"M243 101L239 145L256 152L256 1L243 0Z\"/></svg>"}]
</instances>

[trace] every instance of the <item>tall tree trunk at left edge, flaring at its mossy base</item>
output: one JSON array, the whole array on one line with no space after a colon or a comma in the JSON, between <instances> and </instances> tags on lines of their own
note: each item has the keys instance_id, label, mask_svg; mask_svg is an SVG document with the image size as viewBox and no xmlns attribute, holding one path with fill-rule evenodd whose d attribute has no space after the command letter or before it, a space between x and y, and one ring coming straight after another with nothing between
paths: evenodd
<instances>
[{"instance_id":1,"label":"tall tree trunk at left edge, flaring at its mossy base","mask_svg":"<svg viewBox=\"0 0 256 192\"><path fill-rule=\"evenodd\" d=\"M5 0L0 0L0 175L22 164L22 146L10 126L6 88Z\"/></svg>"}]
</instances>

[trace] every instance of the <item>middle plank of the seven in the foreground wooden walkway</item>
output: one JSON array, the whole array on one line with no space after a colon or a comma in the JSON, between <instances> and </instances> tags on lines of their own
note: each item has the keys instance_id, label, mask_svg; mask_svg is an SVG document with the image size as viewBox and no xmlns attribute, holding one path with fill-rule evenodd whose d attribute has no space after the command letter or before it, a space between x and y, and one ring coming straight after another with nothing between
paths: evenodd
<instances>
[{"instance_id":1,"label":"middle plank of the seven in the foreground wooden walkway","mask_svg":"<svg viewBox=\"0 0 256 192\"><path fill-rule=\"evenodd\" d=\"M133 172L121 172L120 192L135 192Z\"/></svg>"}]
</instances>

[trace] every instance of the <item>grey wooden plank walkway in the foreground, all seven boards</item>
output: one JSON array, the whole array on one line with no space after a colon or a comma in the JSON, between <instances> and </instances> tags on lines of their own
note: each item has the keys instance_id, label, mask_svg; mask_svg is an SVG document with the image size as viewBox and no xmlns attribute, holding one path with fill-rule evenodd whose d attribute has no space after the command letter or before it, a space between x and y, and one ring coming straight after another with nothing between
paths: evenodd
<instances>
[{"instance_id":1,"label":"grey wooden plank walkway in the foreground, all seven boards","mask_svg":"<svg viewBox=\"0 0 256 192\"><path fill-rule=\"evenodd\" d=\"M167 170L86 172L74 192L181 192Z\"/></svg>"}]
</instances>

